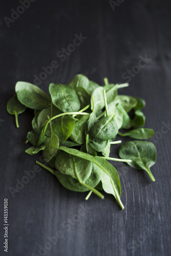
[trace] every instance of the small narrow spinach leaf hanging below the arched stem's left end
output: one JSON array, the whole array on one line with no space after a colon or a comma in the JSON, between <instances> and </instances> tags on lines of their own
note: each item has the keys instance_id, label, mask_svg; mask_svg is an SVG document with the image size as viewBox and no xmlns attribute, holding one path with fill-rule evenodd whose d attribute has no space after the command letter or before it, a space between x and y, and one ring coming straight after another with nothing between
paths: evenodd
<instances>
[{"instance_id":1,"label":"small narrow spinach leaf hanging below the arched stem's left end","mask_svg":"<svg viewBox=\"0 0 171 256\"><path fill-rule=\"evenodd\" d=\"M49 160L51 160L51 158L56 154L59 147L59 139L56 136L56 134L54 134L52 126L50 127L51 127L51 139L47 143L45 150L43 151L43 157L46 162L49 162Z\"/></svg>"}]
</instances>

